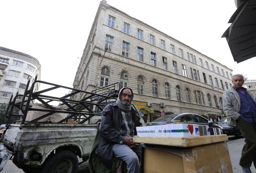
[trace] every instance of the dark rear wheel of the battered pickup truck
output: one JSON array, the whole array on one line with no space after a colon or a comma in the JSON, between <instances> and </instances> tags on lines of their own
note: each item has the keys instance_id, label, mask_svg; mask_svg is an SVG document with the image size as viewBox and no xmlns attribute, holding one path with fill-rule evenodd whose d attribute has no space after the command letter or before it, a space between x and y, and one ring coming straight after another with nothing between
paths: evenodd
<instances>
[{"instance_id":1,"label":"dark rear wheel of the battered pickup truck","mask_svg":"<svg viewBox=\"0 0 256 173\"><path fill-rule=\"evenodd\" d=\"M71 151L60 151L50 156L43 165L42 172L74 173L78 170L78 158Z\"/></svg>"}]
</instances>

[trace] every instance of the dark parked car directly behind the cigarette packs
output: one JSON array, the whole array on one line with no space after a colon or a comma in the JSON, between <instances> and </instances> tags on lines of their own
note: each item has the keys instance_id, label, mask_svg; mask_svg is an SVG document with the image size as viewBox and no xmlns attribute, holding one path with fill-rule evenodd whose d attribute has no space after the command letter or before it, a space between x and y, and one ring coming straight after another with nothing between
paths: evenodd
<instances>
[{"instance_id":1,"label":"dark parked car directly behind the cigarette packs","mask_svg":"<svg viewBox=\"0 0 256 173\"><path fill-rule=\"evenodd\" d=\"M202 117L201 115L192 114L192 113L182 113L182 114L170 114L165 115L164 117L160 117L155 119L150 123L146 123L146 126L150 125L165 125L165 124L173 124L173 121L180 120L185 124L197 124L197 125L209 125L210 128L220 128L223 131L223 134L226 134L223 128L217 124L214 124L212 121Z\"/></svg>"}]
</instances>

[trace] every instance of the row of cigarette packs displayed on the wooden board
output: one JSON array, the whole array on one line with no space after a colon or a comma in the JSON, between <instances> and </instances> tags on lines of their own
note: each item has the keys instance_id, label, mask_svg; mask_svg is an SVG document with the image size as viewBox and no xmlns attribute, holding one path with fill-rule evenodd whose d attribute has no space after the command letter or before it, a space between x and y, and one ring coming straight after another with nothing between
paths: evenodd
<instances>
[{"instance_id":1,"label":"row of cigarette packs displayed on the wooden board","mask_svg":"<svg viewBox=\"0 0 256 173\"><path fill-rule=\"evenodd\" d=\"M171 136L171 137L191 137L222 135L222 129L209 128L208 125L196 124L168 124L136 127L138 136Z\"/></svg>"}]
</instances>

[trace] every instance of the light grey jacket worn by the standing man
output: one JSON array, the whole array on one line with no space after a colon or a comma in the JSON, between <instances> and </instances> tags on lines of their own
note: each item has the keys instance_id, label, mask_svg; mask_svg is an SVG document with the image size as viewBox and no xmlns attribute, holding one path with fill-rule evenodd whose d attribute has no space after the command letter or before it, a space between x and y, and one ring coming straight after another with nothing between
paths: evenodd
<instances>
[{"instance_id":1,"label":"light grey jacket worn by the standing man","mask_svg":"<svg viewBox=\"0 0 256 173\"><path fill-rule=\"evenodd\" d=\"M242 87L246 90L246 88ZM251 96L254 103L256 104L255 95L251 92L246 92ZM240 117L241 100L239 94L236 92L234 87L229 88L223 93L223 111L227 115L228 128L238 128L236 120Z\"/></svg>"}]
</instances>

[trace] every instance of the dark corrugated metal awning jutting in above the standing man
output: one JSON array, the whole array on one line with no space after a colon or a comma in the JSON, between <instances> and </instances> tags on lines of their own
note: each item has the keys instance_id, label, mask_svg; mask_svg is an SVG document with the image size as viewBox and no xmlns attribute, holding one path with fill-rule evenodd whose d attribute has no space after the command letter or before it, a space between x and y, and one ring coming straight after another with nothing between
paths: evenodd
<instances>
[{"instance_id":1,"label":"dark corrugated metal awning jutting in above the standing man","mask_svg":"<svg viewBox=\"0 0 256 173\"><path fill-rule=\"evenodd\" d=\"M256 0L245 0L231 16L222 37L226 38L234 61L256 56Z\"/></svg>"}]
</instances>

